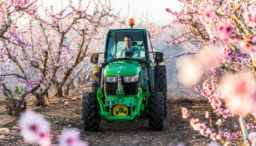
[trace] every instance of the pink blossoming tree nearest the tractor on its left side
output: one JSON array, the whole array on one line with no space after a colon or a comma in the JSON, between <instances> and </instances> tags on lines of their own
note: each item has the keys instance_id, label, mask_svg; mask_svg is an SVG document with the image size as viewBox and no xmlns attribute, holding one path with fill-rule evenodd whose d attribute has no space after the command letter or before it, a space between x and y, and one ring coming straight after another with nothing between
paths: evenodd
<instances>
[{"instance_id":1,"label":"pink blossoming tree nearest the tractor on its left side","mask_svg":"<svg viewBox=\"0 0 256 146\"><path fill-rule=\"evenodd\" d=\"M52 83L57 96L63 96L62 88L69 76L88 57L88 50L93 51L102 44L106 30L116 18L111 13L109 3L93 1L85 9L81 6L82 1L79 1L78 7L73 6L71 1L57 13L53 12L53 7L45 10L47 19L42 19L39 15L31 18L37 22L32 24L37 26L34 26L34 32L37 28L41 29L41 33L33 37L38 38L38 45L46 46L49 52L49 77L56 72ZM92 7L94 10L89 12L88 9ZM43 49L45 48L39 48Z\"/></svg>"}]
</instances>

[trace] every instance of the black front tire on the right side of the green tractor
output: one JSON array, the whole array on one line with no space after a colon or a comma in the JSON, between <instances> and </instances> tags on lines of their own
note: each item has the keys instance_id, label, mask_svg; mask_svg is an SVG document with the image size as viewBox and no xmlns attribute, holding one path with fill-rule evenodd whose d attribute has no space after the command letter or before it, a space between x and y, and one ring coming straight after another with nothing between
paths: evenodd
<instances>
[{"instance_id":1,"label":"black front tire on the right side of the green tractor","mask_svg":"<svg viewBox=\"0 0 256 146\"><path fill-rule=\"evenodd\" d=\"M164 93L152 92L149 99L149 128L153 131L164 129Z\"/></svg>"}]
</instances>

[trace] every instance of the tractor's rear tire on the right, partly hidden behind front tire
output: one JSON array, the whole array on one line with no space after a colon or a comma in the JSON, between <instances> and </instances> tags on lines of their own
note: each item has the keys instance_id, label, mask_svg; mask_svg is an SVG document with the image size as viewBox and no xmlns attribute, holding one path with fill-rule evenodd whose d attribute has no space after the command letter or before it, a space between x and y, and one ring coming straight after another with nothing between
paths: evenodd
<instances>
[{"instance_id":1,"label":"tractor's rear tire on the right, partly hidden behind front tire","mask_svg":"<svg viewBox=\"0 0 256 146\"><path fill-rule=\"evenodd\" d=\"M167 79L166 66L158 66L158 91L164 93L164 118L167 116Z\"/></svg>"}]
</instances>

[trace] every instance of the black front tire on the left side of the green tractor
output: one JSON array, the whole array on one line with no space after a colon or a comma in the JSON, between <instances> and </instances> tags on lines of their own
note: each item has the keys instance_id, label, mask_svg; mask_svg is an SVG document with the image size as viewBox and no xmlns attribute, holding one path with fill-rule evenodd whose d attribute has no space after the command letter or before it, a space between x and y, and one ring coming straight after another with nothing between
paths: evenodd
<instances>
[{"instance_id":1,"label":"black front tire on the left side of the green tractor","mask_svg":"<svg viewBox=\"0 0 256 146\"><path fill-rule=\"evenodd\" d=\"M97 94L95 92L84 93L84 96L82 96L82 119L86 131L98 131L100 128L97 105Z\"/></svg>"}]
</instances>

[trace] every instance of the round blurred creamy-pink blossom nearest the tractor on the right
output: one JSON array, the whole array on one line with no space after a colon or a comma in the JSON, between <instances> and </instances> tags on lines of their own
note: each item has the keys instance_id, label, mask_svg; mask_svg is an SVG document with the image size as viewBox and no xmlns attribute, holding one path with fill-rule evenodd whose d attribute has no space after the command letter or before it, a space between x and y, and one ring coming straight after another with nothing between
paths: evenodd
<instances>
[{"instance_id":1,"label":"round blurred creamy-pink blossom nearest the tractor on the right","mask_svg":"<svg viewBox=\"0 0 256 146\"><path fill-rule=\"evenodd\" d=\"M183 57L177 60L178 81L185 87L193 87L201 78L201 66L195 58Z\"/></svg>"}]
</instances>

